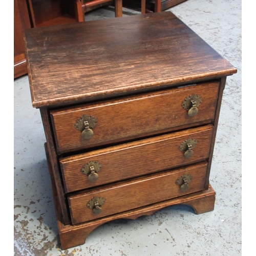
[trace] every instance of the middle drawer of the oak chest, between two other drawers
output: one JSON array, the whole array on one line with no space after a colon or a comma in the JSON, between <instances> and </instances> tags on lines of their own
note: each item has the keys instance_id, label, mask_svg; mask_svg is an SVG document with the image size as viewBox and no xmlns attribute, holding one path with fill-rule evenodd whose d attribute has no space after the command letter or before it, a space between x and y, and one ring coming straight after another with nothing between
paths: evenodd
<instances>
[{"instance_id":1,"label":"middle drawer of the oak chest, between two other drawers","mask_svg":"<svg viewBox=\"0 0 256 256\"><path fill-rule=\"evenodd\" d=\"M128 178L159 172L208 158L212 125L156 136L72 157L61 158L66 192L86 189ZM193 155L186 158L188 139L196 141ZM185 142L185 143L184 143ZM91 166L93 170L91 172ZM97 174L95 174L97 173ZM97 175L97 180L95 179Z\"/></svg>"}]
</instances>

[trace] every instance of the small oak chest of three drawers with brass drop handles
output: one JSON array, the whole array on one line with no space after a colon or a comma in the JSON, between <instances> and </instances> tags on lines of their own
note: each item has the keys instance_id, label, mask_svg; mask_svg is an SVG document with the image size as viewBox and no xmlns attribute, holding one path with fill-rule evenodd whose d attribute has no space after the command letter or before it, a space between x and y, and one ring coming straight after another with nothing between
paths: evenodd
<instances>
[{"instance_id":1,"label":"small oak chest of three drawers with brass drop handles","mask_svg":"<svg viewBox=\"0 0 256 256\"><path fill-rule=\"evenodd\" d=\"M30 29L25 42L62 249L114 219L214 209L228 61L170 12Z\"/></svg>"}]
</instances>

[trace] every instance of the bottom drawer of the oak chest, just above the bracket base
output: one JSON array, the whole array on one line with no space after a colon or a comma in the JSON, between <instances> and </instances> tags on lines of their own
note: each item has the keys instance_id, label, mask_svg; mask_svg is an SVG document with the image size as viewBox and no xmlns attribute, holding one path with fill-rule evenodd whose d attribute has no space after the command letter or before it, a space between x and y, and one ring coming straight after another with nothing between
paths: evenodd
<instances>
[{"instance_id":1,"label":"bottom drawer of the oak chest, just above the bracket base","mask_svg":"<svg viewBox=\"0 0 256 256\"><path fill-rule=\"evenodd\" d=\"M73 194L68 198L72 223L98 219L203 190L206 168L207 162L202 162Z\"/></svg>"}]
</instances>

